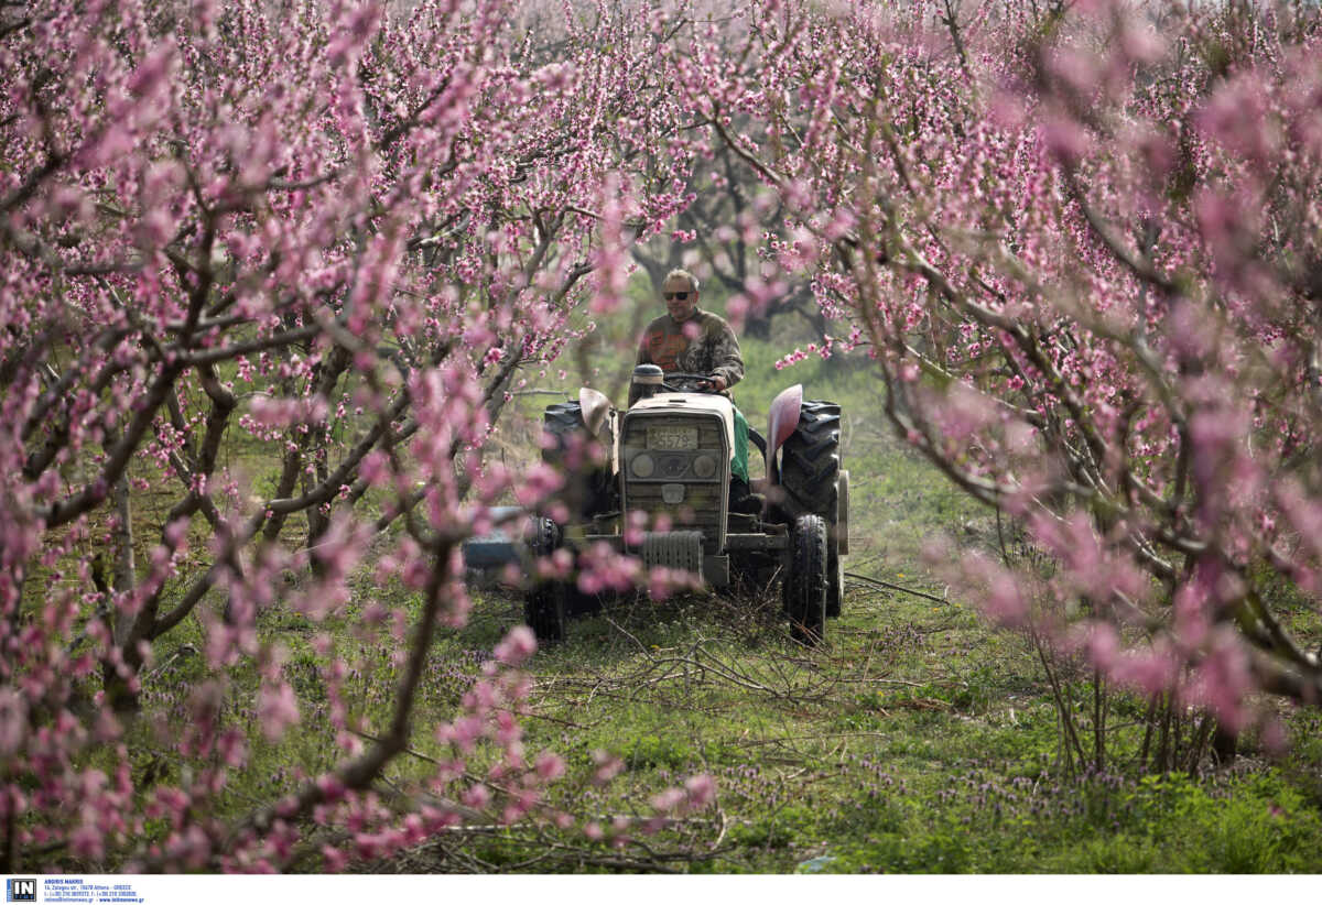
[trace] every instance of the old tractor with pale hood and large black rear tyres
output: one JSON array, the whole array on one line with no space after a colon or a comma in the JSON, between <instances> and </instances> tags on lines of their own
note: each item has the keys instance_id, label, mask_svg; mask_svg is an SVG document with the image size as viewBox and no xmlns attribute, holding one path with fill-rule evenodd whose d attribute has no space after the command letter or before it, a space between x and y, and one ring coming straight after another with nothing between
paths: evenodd
<instances>
[{"instance_id":1,"label":"old tractor with pale hood and large black rear tyres","mask_svg":"<svg viewBox=\"0 0 1322 905\"><path fill-rule=\"evenodd\" d=\"M561 501L568 519L534 518L527 554L576 552L604 542L648 568L685 569L715 589L736 579L760 587L779 580L793 637L805 645L821 641L826 617L841 612L849 554L839 406L805 400L800 384L777 395L767 435L747 429L767 477L731 501L731 399L710 391L707 375L664 374L656 365L639 365L632 379L637 400L627 411L591 388L546 410L542 456L566 474ZM603 454L584 466L575 460L590 445ZM665 530L631 536L635 511ZM539 639L558 641L567 617L600 605L572 581L541 580L526 592L525 617Z\"/></svg>"}]
</instances>

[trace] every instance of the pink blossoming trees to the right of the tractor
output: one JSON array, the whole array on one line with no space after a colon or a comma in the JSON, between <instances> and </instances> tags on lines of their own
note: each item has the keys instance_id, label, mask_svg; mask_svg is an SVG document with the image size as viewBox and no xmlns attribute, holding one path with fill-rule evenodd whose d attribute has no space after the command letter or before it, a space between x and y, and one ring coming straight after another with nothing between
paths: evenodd
<instances>
[{"instance_id":1,"label":"pink blossoming trees to the right of the tractor","mask_svg":"<svg viewBox=\"0 0 1322 905\"><path fill-rule=\"evenodd\" d=\"M866 347L899 435L1026 531L957 569L988 609L1229 732L1322 692L1286 617L1322 567L1318 24L769 4L758 66L690 82L797 210L771 251L853 326L820 351Z\"/></svg>"}]
</instances>

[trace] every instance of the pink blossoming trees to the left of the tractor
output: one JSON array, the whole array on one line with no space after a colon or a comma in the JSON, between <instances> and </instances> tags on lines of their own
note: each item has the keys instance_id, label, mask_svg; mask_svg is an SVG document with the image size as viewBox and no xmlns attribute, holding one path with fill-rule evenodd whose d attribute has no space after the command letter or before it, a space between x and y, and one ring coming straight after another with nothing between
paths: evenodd
<instances>
[{"instance_id":1,"label":"pink blossoming trees to the left of the tractor","mask_svg":"<svg viewBox=\"0 0 1322 905\"><path fill-rule=\"evenodd\" d=\"M369 787L415 729L436 628L465 618L460 542L516 484L535 503L558 481L483 462L518 369L588 300L608 310L628 243L685 203L661 40L646 17L501 1L0 11L4 871L278 868L308 816L341 828L336 865L537 805L563 765L525 756L512 716L526 629L428 727L455 752L443 795L401 816ZM262 744L300 720L258 614L321 622L371 563L422 600L356 601L399 643L391 716L364 723L319 635L340 765L221 819L254 742L222 720L233 667L260 676ZM192 778L137 787L126 720L185 620L210 678L159 728ZM498 753L485 778L464 769L477 745ZM139 843L147 820L168 831Z\"/></svg>"}]
</instances>

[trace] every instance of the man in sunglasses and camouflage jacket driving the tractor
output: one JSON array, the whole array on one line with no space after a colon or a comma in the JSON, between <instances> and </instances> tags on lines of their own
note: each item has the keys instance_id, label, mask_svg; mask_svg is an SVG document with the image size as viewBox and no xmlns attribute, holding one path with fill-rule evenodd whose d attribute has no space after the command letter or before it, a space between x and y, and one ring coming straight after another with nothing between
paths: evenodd
<instances>
[{"instance_id":1,"label":"man in sunglasses and camouflage jacket driving the tractor","mask_svg":"<svg viewBox=\"0 0 1322 905\"><path fill-rule=\"evenodd\" d=\"M698 308L698 279L683 270L666 273L661 284L666 313L648 324L639 342L637 365L656 365L664 373L707 374L705 388L727 396L743 379L739 340L724 318ZM731 396L732 399L732 396ZM629 391L629 406L639 388ZM735 408L734 454L730 460L730 507L756 511L761 501L748 488L748 421Z\"/></svg>"}]
</instances>

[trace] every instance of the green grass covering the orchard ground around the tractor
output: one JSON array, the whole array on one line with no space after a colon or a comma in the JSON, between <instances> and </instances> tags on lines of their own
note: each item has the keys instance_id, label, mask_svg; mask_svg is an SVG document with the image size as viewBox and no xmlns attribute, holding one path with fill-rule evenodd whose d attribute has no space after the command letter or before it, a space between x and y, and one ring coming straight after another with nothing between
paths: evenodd
<instances>
[{"instance_id":1,"label":"green grass covering the orchard ground around the tractor","mask_svg":"<svg viewBox=\"0 0 1322 905\"><path fill-rule=\"evenodd\" d=\"M792 344L792 338L791 338ZM899 445L875 387L857 362L812 359L789 371L771 363L784 344L747 342L748 377L738 400L754 425L771 398L802 382L810 398L845 406L845 460L853 481L851 572L923 591L935 602L865 581L849 587L843 616L817 650L804 650L764 602L703 595L664 602L621 601L574 621L568 639L530 665L530 754L553 749L568 765L551 802L579 819L568 828L481 828L432 839L390 863L401 871L681 872L1317 872L1322 869L1322 716L1290 716L1300 744L1269 761L1247 740L1233 769L1199 779L1144 776L1120 764L1066 778L1058 716L1025 638L989 626L974 602L951 595L924 569L928 539L951 532L984 543L986 511ZM602 386L612 375L600 378ZM554 383L554 382L551 382ZM559 386L559 384L557 384ZM542 395L522 395L493 454L529 456ZM756 469L755 469L756 473ZM293 581L299 581L297 577ZM395 679L389 633L361 630L373 601L406 614L411 592L364 576L346 613L317 626L282 606L262 614L264 639L288 649L287 671L303 723L280 745L259 742L235 772L227 807L295 789L344 756L327 719L328 634L349 663L342 698L365 725L382 727ZM476 592L472 617L447 629L419 692L411 753L382 783L424 776L446 752L432 729L452 717L488 651L522 618L517 596ZM178 779L153 720L182 716L208 680L200 624L189 620L157 651L144 682L151 719L135 728L135 778ZM177 654L177 655L175 655ZM243 700L254 670L225 679L241 706L223 719L253 728ZM1126 709L1128 708L1128 709ZM1141 702L1116 702L1141 713ZM1137 728L1129 733L1134 745ZM370 735L370 732L369 732ZM260 737L259 732L256 737ZM1120 745L1124 749L1124 745ZM605 750L624 769L607 787L588 781ZM481 756L469 769L480 770ZM718 782L715 807L680 820L646 848L590 843L584 820L649 813L656 791L695 773ZM147 782L147 785L151 785ZM149 827L151 830L151 827ZM319 869L307 856L296 867Z\"/></svg>"}]
</instances>

